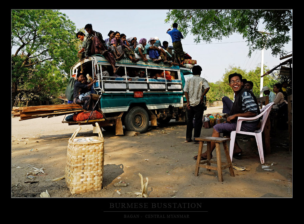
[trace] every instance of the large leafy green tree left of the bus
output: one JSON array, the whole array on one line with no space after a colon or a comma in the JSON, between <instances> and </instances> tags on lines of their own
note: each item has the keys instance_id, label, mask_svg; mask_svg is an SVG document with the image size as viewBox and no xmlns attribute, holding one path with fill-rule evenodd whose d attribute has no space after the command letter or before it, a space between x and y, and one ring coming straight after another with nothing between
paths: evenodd
<instances>
[{"instance_id":1,"label":"large leafy green tree left of the bus","mask_svg":"<svg viewBox=\"0 0 304 224\"><path fill-rule=\"evenodd\" d=\"M58 10L12 10L12 104L64 91L77 61L75 24ZM14 48L13 48L14 47Z\"/></svg>"}]
</instances>

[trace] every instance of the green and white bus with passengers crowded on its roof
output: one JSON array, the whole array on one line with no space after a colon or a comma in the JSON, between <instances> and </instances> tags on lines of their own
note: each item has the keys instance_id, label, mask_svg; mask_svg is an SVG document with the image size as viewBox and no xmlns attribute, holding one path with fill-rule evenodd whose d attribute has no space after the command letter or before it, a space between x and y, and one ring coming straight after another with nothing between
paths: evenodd
<instances>
[{"instance_id":1,"label":"green and white bus with passengers crowded on its roof","mask_svg":"<svg viewBox=\"0 0 304 224\"><path fill-rule=\"evenodd\" d=\"M134 63L127 58L116 62L116 67L119 69L114 75L112 66L104 57L93 55L78 61L71 68L72 77L76 78L81 70L93 79L97 77L93 88L99 96L99 112L102 112L104 118L98 122L99 126L105 130L114 129L117 122L122 122L127 131L143 133L148 129L149 121L152 126L157 126L157 122L167 123L171 119L185 121L186 99L183 88L185 78L192 76L190 69L162 62L157 64L150 60ZM110 77L103 76L103 69L107 70ZM146 77L138 77L141 70ZM168 72L171 79L165 76L151 78Z\"/></svg>"}]
</instances>

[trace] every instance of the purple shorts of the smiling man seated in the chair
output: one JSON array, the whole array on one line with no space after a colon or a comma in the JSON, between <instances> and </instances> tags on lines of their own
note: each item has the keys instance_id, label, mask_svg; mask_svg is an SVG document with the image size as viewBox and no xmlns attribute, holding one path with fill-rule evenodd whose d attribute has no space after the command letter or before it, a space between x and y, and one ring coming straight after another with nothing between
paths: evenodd
<instances>
[{"instance_id":1,"label":"purple shorts of the smiling man seated in the chair","mask_svg":"<svg viewBox=\"0 0 304 224\"><path fill-rule=\"evenodd\" d=\"M241 131L243 132L254 132L259 122L242 122ZM227 133L236 130L236 122L232 123L220 123L213 126L213 128L219 133Z\"/></svg>"}]
</instances>

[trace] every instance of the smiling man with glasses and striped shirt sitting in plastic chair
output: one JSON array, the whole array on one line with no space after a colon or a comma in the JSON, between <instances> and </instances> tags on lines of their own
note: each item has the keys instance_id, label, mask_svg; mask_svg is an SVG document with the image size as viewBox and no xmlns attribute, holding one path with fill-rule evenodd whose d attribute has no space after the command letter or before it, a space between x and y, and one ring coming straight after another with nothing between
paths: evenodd
<instances>
[{"instance_id":1,"label":"smiling man with glasses and striped shirt sitting in plastic chair","mask_svg":"<svg viewBox=\"0 0 304 224\"><path fill-rule=\"evenodd\" d=\"M223 136L230 137L230 133L236 130L236 123L238 117L254 117L260 114L258 102L254 94L250 90L242 87L242 75L238 73L230 74L228 80L229 86L235 93L234 103L227 118L227 122L216 124L213 126L212 137L220 137L220 133L223 133ZM253 121L243 121L241 131L254 132L258 124L259 119ZM214 148L215 143L211 142L211 158L212 151L214 150ZM240 159L241 153L242 149L235 141L233 157L236 159ZM197 156L194 156L193 158L197 159ZM201 155L201 160L205 159L207 159L207 152L204 152Z\"/></svg>"}]
</instances>

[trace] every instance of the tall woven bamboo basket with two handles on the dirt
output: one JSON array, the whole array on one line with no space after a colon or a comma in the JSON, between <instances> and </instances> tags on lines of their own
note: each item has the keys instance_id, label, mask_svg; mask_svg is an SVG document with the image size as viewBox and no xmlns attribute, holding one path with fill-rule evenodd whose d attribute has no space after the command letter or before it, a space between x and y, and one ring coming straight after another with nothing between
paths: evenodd
<instances>
[{"instance_id":1,"label":"tall woven bamboo basket with two handles on the dirt","mask_svg":"<svg viewBox=\"0 0 304 224\"><path fill-rule=\"evenodd\" d=\"M98 123L98 137L92 136L93 142L75 142L79 127L68 140L65 181L71 194L99 191L102 187L104 146L103 135Z\"/></svg>"}]
</instances>

